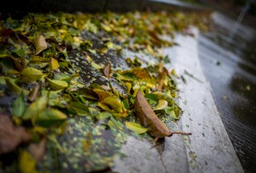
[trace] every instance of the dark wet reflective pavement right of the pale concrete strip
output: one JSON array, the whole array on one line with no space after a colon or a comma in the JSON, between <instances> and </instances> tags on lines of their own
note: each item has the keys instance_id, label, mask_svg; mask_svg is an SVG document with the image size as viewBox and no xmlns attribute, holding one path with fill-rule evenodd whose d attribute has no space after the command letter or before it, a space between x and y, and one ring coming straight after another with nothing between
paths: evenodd
<instances>
[{"instance_id":1,"label":"dark wet reflective pavement right of the pale concrete strip","mask_svg":"<svg viewBox=\"0 0 256 173\"><path fill-rule=\"evenodd\" d=\"M225 129L245 172L256 171L255 30L213 13L211 32L199 39L199 57ZM230 33L232 32L233 33Z\"/></svg>"}]
</instances>

